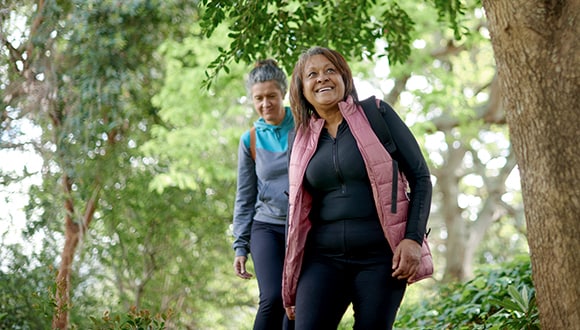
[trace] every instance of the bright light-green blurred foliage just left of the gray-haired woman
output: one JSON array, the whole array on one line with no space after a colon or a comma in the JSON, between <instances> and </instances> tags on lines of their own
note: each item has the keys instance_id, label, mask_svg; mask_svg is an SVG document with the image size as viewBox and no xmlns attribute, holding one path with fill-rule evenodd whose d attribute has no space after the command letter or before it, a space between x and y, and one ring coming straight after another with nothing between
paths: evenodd
<instances>
[{"instance_id":1,"label":"bright light-green blurred foliage just left of the gray-haired woman","mask_svg":"<svg viewBox=\"0 0 580 330\"><path fill-rule=\"evenodd\" d=\"M197 23L190 28L191 36L179 42L168 40L161 47L167 75L152 102L163 122L153 127L153 138L141 149L167 166L153 180L154 189L206 187L224 193L224 188L235 185L239 137L254 117L244 101L247 69L233 66L228 76L204 93L200 77L227 37L223 28L213 39L200 38ZM233 191L225 196L233 197ZM229 199L223 202L231 205Z\"/></svg>"}]
</instances>

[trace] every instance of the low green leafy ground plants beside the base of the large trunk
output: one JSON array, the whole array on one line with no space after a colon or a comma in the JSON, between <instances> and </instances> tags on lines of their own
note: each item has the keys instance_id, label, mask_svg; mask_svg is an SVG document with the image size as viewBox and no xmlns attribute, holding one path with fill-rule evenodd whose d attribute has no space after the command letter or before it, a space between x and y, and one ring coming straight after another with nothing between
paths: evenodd
<instances>
[{"instance_id":1,"label":"low green leafy ground plants beside the base of the large trunk","mask_svg":"<svg viewBox=\"0 0 580 330\"><path fill-rule=\"evenodd\" d=\"M529 256L482 267L466 283L439 287L415 305L405 305L401 329L539 329Z\"/></svg>"}]
</instances>

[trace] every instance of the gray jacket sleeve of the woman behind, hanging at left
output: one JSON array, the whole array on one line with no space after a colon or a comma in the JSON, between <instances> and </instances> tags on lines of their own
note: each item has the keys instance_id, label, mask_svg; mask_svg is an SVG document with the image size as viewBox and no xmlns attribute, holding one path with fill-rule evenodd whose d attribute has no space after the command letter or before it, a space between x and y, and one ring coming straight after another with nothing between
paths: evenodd
<instances>
[{"instance_id":1,"label":"gray jacket sleeve of the woman behind, hanging at left","mask_svg":"<svg viewBox=\"0 0 580 330\"><path fill-rule=\"evenodd\" d=\"M250 233L258 191L255 168L254 160L250 154L248 131L242 135L238 146L238 178L233 219L234 243L232 245L236 256L247 256L250 253Z\"/></svg>"}]
</instances>

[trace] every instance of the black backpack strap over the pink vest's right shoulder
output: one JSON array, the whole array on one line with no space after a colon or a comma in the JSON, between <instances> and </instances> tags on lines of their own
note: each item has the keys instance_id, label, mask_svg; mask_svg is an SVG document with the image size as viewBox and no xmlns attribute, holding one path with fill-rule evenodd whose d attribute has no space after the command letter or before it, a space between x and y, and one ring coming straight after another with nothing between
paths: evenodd
<instances>
[{"instance_id":1,"label":"black backpack strap over the pink vest's right shoulder","mask_svg":"<svg viewBox=\"0 0 580 330\"><path fill-rule=\"evenodd\" d=\"M371 128L375 132L375 135L379 138L387 152L391 155L392 164L393 164L393 183L392 183L392 193L391 193L391 212L397 212L397 190L398 190L398 182L399 182L399 164L393 158L393 153L397 151L397 146L393 141L391 136L391 131L385 122L385 119L381 115L381 112L384 112L383 103L379 99L375 99L374 96L369 97L368 99L360 101L360 105L362 106L365 115L371 125Z\"/></svg>"}]
</instances>

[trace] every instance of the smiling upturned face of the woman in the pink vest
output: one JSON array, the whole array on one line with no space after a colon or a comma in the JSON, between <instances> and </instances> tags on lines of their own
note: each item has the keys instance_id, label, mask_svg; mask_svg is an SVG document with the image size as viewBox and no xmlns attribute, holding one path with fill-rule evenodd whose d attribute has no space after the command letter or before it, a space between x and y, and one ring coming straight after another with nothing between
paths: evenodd
<instances>
[{"instance_id":1,"label":"smiling upturned face of the woman in the pink vest","mask_svg":"<svg viewBox=\"0 0 580 330\"><path fill-rule=\"evenodd\" d=\"M336 66L324 55L311 56L302 72L304 97L317 111L338 108L345 85Z\"/></svg>"}]
</instances>

